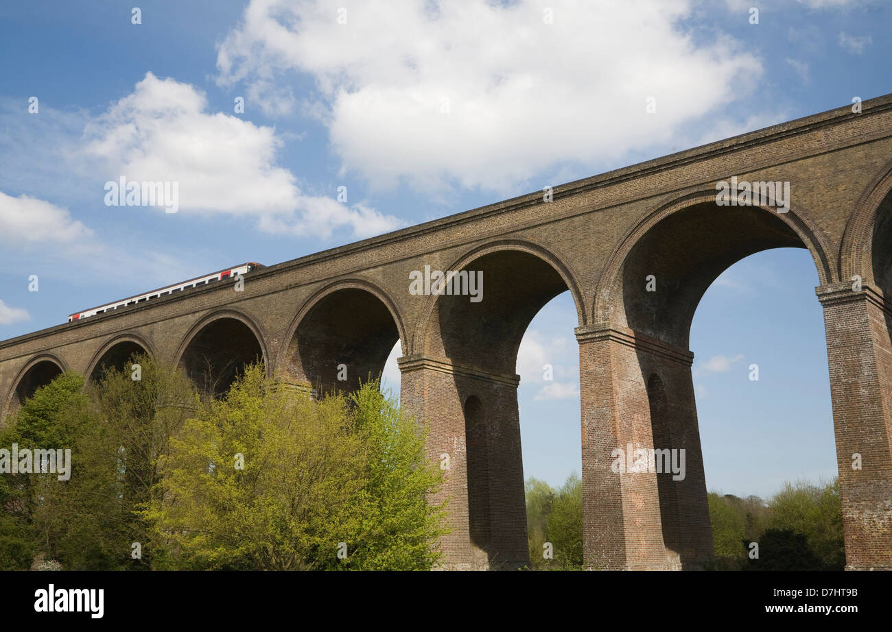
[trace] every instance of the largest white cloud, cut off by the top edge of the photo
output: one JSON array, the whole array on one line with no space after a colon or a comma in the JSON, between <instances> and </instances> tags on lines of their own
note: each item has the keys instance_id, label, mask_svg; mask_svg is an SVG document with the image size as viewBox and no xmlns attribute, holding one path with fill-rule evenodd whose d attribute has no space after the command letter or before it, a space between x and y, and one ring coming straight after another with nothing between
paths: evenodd
<instances>
[{"instance_id":1,"label":"largest white cloud, cut off by the top edge of the photo","mask_svg":"<svg viewBox=\"0 0 892 632\"><path fill-rule=\"evenodd\" d=\"M506 191L566 161L614 160L667 142L762 72L723 34L695 44L679 25L687 0L556 0L551 24L533 0L368 2L346 24L341 5L252 0L218 47L218 81L282 111L281 75L308 73L318 98L303 107L343 168L379 187Z\"/></svg>"}]
</instances>

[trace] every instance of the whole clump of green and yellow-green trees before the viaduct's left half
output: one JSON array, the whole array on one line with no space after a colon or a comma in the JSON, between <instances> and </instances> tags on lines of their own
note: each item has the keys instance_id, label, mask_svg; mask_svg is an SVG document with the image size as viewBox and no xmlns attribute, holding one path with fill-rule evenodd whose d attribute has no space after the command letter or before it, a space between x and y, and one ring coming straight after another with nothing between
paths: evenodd
<instances>
[{"instance_id":1,"label":"whole clump of green and yellow-green trees before the viaduct's left half","mask_svg":"<svg viewBox=\"0 0 892 632\"><path fill-rule=\"evenodd\" d=\"M98 384L63 374L0 429L0 447L71 450L70 480L0 476L0 569L438 562L444 508L426 498L442 472L425 458L424 429L376 382L320 402L253 366L225 398L202 403L182 373L131 362L140 380L129 363Z\"/></svg>"}]
</instances>

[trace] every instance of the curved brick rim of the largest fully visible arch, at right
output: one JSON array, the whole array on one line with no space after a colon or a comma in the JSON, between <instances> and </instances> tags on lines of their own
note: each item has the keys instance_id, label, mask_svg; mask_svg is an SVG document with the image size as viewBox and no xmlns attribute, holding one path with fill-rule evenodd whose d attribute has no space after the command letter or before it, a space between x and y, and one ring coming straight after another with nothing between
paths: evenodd
<instances>
[{"instance_id":1,"label":"curved brick rim of the largest fully visible arch, at right","mask_svg":"<svg viewBox=\"0 0 892 632\"><path fill-rule=\"evenodd\" d=\"M657 228L657 226L659 226L665 219L673 218L673 216L676 216L685 210L695 209L706 203L714 203L714 200L715 190L704 189L667 201L646 218L643 218L625 234L619 247L613 251L610 258L607 260L607 266L604 267L596 285L591 313L593 323L626 324L623 303L623 273L632 250L639 245L642 240L650 236L652 234L651 231ZM795 205L790 205L790 209L786 213L778 213L776 209L755 204L740 205L738 207L716 207L720 212L723 209L747 208L762 210L765 213L769 213L773 218L777 218L784 226L787 226L794 234L796 234L797 240L801 242L801 245L804 245L812 255L814 266L822 285L832 283L838 279L836 266L827 256L827 253L831 251L830 242L827 236L823 234L817 226L814 226L810 219L808 219L808 217L811 216L804 211L797 209ZM759 250L753 250L753 252L757 251ZM752 252L749 254L752 254ZM747 255L744 255L744 257L746 256ZM721 272L719 274L721 274ZM619 313L617 313L617 310ZM620 320L623 322L619 322Z\"/></svg>"}]
</instances>

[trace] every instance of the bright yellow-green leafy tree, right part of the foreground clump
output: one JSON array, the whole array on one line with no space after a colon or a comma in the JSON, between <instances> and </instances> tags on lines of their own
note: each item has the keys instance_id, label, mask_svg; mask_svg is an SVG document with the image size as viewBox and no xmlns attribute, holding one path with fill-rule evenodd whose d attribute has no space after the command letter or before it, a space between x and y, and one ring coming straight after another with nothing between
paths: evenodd
<instances>
[{"instance_id":1,"label":"bright yellow-green leafy tree, right part of the foreground clump","mask_svg":"<svg viewBox=\"0 0 892 632\"><path fill-rule=\"evenodd\" d=\"M143 514L154 540L172 546L171 564L430 568L442 507L426 495L441 475L425 464L423 433L376 390L316 401L246 369L162 459Z\"/></svg>"}]
</instances>

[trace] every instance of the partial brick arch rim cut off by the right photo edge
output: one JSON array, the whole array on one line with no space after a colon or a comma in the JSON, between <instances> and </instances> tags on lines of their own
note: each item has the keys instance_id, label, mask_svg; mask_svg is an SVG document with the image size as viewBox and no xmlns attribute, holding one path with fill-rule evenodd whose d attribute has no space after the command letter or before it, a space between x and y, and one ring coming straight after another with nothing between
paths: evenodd
<instances>
[{"instance_id":1,"label":"partial brick arch rim cut off by the right photo edge","mask_svg":"<svg viewBox=\"0 0 892 632\"><path fill-rule=\"evenodd\" d=\"M864 187L846 223L839 245L839 280L849 281L854 275L873 282L873 229L880 205L892 193L892 160Z\"/></svg>"}]
</instances>

